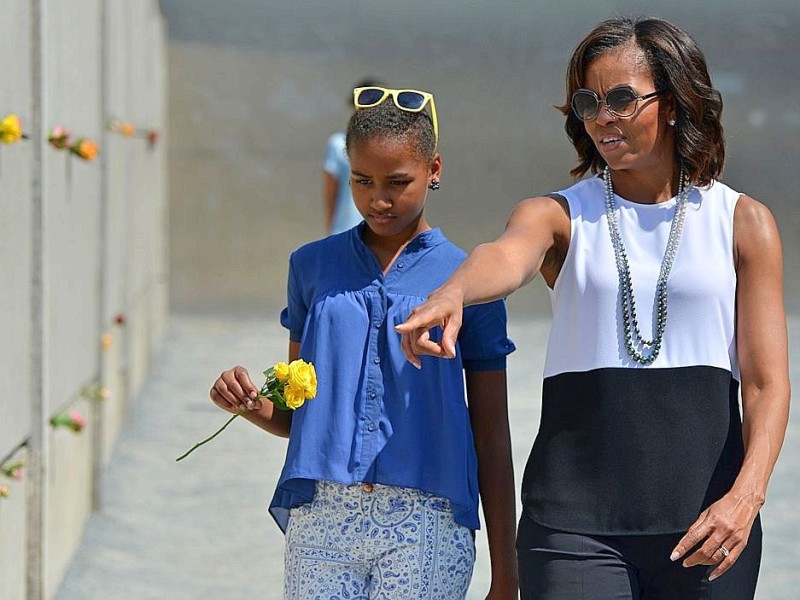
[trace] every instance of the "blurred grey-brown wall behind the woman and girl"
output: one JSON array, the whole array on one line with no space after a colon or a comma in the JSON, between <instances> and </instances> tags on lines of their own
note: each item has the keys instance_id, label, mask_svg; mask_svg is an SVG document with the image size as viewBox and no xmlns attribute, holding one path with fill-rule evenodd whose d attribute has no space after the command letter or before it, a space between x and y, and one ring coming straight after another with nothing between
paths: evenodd
<instances>
[{"instance_id":1,"label":"blurred grey-brown wall behind the woman and girl","mask_svg":"<svg viewBox=\"0 0 800 600\"><path fill-rule=\"evenodd\" d=\"M764 201L800 308L800 4L764 0L162 0L170 45L171 298L275 314L288 252L323 234L321 161L364 76L435 93L444 158L430 220L465 249L522 198L570 183L553 105L578 40L604 18L674 21L725 101L724 180ZM544 286L511 310L549 314Z\"/></svg>"}]
</instances>

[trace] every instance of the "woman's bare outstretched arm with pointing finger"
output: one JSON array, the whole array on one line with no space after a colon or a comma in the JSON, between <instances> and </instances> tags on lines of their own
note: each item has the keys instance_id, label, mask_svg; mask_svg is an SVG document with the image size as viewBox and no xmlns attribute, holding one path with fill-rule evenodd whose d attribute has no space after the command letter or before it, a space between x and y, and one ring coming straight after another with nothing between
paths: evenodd
<instances>
[{"instance_id":1,"label":"woman's bare outstretched arm with pointing finger","mask_svg":"<svg viewBox=\"0 0 800 600\"><path fill-rule=\"evenodd\" d=\"M396 327L403 334L406 358L417 368L422 354L453 358L463 307L505 298L540 271L551 284L561 268L569 236L569 208L563 198L520 202L503 235L477 246L450 279ZM428 335L437 325L444 329L441 344Z\"/></svg>"}]
</instances>

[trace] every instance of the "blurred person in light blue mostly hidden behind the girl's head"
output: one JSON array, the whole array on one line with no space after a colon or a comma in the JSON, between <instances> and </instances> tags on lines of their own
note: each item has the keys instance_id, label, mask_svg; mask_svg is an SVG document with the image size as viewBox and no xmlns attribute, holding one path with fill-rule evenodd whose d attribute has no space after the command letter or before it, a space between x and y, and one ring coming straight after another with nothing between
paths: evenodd
<instances>
[{"instance_id":1,"label":"blurred person in light blue mostly hidden behind the girl's head","mask_svg":"<svg viewBox=\"0 0 800 600\"><path fill-rule=\"evenodd\" d=\"M355 87L381 86L376 79L365 79ZM352 98L348 96L347 105ZM350 193L350 162L345 148L345 134L337 131L328 138L322 162L322 197L325 210L325 233L341 233L361 222L361 213Z\"/></svg>"}]
</instances>

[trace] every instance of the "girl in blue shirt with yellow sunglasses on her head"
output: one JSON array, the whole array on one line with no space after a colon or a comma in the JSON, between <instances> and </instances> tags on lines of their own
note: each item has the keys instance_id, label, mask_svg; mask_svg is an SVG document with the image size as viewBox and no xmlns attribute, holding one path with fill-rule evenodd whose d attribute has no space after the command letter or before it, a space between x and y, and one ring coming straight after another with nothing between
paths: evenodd
<instances>
[{"instance_id":1,"label":"girl in blue shirt with yellow sunglasses on her head","mask_svg":"<svg viewBox=\"0 0 800 600\"><path fill-rule=\"evenodd\" d=\"M418 370L404 359L394 327L465 254L424 215L442 169L433 97L357 88L355 107L347 152L364 222L292 254L281 315L289 359L316 367L317 396L276 410L235 367L211 399L289 437L270 506L286 533L287 598L463 598L478 489L489 597L516 598L505 306L465 311L455 360Z\"/></svg>"}]
</instances>

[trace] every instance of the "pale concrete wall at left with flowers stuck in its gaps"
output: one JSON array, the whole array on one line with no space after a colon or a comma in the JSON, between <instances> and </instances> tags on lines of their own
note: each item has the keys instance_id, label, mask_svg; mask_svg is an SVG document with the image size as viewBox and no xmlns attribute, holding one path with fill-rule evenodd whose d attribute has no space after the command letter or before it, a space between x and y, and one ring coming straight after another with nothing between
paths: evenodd
<instances>
[{"instance_id":1,"label":"pale concrete wall at left with flowers stuck in its gaps","mask_svg":"<svg viewBox=\"0 0 800 600\"><path fill-rule=\"evenodd\" d=\"M165 330L165 36L155 0L4 3L0 118L28 139L0 147L0 467L26 463L0 474L3 600L57 589ZM57 125L98 158L51 147ZM49 425L71 411L81 432Z\"/></svg>"}]
</instances>

